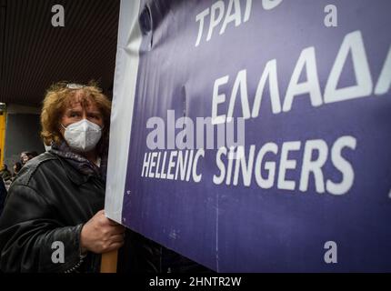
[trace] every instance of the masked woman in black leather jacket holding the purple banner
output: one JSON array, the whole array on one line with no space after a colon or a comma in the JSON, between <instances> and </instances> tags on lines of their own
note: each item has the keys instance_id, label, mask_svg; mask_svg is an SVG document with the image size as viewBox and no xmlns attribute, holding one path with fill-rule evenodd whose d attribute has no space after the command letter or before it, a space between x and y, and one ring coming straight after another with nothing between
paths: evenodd
<instances>
[{"instance_id":1,"label":"masked woman in black leather jacket holding the purple banner","mask_svg":"<svg viewBox=\"0 0 391 291\"><path fill-rule=\"evenodd\" d=\"M4 272L97 272L124 243L105 217L110 102L95 85L53 85L41 113L46 152L28 161L0 217Z\"/></svg>"}]
</instances>

